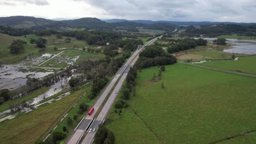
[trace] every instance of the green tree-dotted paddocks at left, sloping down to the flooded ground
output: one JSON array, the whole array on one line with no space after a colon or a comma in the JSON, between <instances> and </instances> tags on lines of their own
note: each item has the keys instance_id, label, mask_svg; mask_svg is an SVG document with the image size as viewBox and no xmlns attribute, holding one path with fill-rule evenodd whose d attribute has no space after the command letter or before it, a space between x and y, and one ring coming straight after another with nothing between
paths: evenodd
<instances>
[{"instance_id":1,"label":"green tree-dotted paddocks at left, sloping down to the flooded ground","mask_svg":"<svg viewBox=\"0 0 256 144\"><path fill-rule=\"evenodd\" d=\"M68 37L62 37L62 39L57 39L56 35L51 35L49 37L42 37L44 39L47 40L47 44L45 44L46 48L45 51L43 52L39 52L39 48L36 47L36 44L30 44L30 39L38 39L40 38L37 35L34 34L29 34L26 35L26 37L24 36L20 36L20 37L12 37L6 34L0 34L0 61L3 64L14 64L14 63L19 63L21 61L26 61L26 58L29 57L40 57L45 53L50 53L50 54L57 54L59 52L61 52L62 50L58 50L58 51L54 51L54 47L56 47L57 49L80 49L79 50L67 50L67 52L65 52L66 54L64 56L68 56L68 57L75 57L78 55L81 55L81 58L89 58L89 57L103 57L103 55L101 55L100 53L89 53L89 52L82 52L83 48L87 49L87 48L91 48L91 49L95 49L97 48L96 46L89 46L86 41L83 40L77 40L75 38L71 38L71 42L70 43L66 43L65 39ZM10 53L10 50L8 49L10 43L15 40L15 39L21 39L27 42L25 46L25 51L20 53L19 55L15 55ZM78 54L78 55L76 55ZM29 60L29 59L28 59ZM63 59L62 59L63 60ZM65 60L65 59L64 59ZM63 60L63 61L64 61ZM81 61L80 59L78 59L78 61ZM60 63L60 62L55 62L55 63L46 63L44 66L54 66L54 67L66 67L67 64L66 63ZM32 64L31 66L37 66Z\"/></svg>"}]
</instances>

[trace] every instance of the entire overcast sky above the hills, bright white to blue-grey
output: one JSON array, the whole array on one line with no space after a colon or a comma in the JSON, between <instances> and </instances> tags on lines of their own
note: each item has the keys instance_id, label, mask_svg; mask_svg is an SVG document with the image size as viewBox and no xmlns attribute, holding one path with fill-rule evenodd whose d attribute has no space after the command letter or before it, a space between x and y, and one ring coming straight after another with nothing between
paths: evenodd
<instances>
[{"instance_id":1,"label":"entire overcast sky above the hills, bright white to blue-grey","mask_svg":"<svg viewBox=\"0 0 256 144\"><path fill-rule=\"evenodd\" d=\"M0 16L256 22L256 0L0 0Z\"/></svg>"}]
</instances>

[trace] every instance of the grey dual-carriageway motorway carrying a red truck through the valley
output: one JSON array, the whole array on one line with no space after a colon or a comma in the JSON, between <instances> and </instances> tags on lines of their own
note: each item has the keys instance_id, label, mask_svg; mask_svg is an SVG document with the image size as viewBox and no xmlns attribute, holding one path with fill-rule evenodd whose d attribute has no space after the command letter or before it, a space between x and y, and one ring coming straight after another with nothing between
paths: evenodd
<instances>
[{"instance_id":1,"label":"grey dual-carriageway motorway carrying a red truck through the valley","mask_svg":"<svg viewBox=\"0 0 256 144\"><path fill-rule=\"evenodd\" d=\"M176 32L176 31L177 31L177 29L175 29L173 32ZM148 43L145 46L153 44L158 38L161 38L161 37L162 37L162 35L148 41ZM91 116L86 115L82 119L82 121L80 121L77 128L75 128L74 133L71 135L71 137L67 141L67 143L72 143L72 144L73 143L79 143L79 141L82 139L86 130L89 130L90 128L92 128L92 129L96 128L97 129L98 125L100 125L102 122L104 122L104 119L106 118L107 113L110 110L110 107L114 103L114 100L117 97L118 92L121 89L121 86L125 82L125 79L127 77L127 74L129 73L130 68L133 67L133 65L135 64L135 62L139 58L139 53L143 49L144 49L144 47L141 48L141 49L137 49L132 54L132 56L128 59L128 61L123 65L123 67L120 68L120 70L117 72L117 74L115 74L114 79L109 83L107 88L104 90L104 92L102 93L100 98L98 98L97 102L93 106L94 107L94 112L91 114ZM100 111L100 113L98 114L97 118L94 119L95 113L98 111L100 106L103 104L103 101L106 99L108 93L111 91L111 89L113 88L114 84L118 81L120 76L121 76L121 78L120 78L119 82L117 83L117 86L115 86L114 91L110 94L106 104L103 106L103 108ZM115 91L117 91L117 93L115 93ZM90 125L91 121L92 121L92 124ZM94 140L94 135L95 135L94 132L87 133L84 140L82 141L82 143L92 143L92 141Z\"/></svg>"}]
</instances>

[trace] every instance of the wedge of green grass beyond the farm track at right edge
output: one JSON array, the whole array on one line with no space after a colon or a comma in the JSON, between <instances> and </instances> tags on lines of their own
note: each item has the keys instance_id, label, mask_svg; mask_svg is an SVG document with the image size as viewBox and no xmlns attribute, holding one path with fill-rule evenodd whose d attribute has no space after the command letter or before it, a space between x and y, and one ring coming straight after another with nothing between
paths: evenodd
<instances>
[{"instance_id":1,"label":"wedge of green grass beyond the farm track at right edge","mask_svg":"<svg viewBox=\"0 0 256 144\"><path fill-rule=\"evenodd\" d=\"M200 63L200 65L225 70L242 71L243 73L249 74L256 74L255 62L256 57L240 57L237 61L210 61Z\"/></svg>"}]
</instances>

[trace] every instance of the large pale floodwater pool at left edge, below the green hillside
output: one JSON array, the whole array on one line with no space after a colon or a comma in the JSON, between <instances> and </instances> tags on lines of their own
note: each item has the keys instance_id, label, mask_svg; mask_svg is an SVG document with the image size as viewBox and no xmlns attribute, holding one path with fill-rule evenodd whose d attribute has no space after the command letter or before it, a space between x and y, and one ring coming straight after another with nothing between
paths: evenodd
<instances>
[{"instance_id":1,"label":"large pale floodwater pool at left edge, below the green hillside","mask_svg":"<svg viewBox=\"0 0 256 144\"><path fill-rule=\"evenodd\" d=\"M53 71L48 72L22 72L19 71L19 66L4 66L0 68L0 90L1 89L15 89L25 85L27 78L40 79L46 75L53 74ZM30 70L32 68L22 68Z\"/></svg>"}]
</instances>

